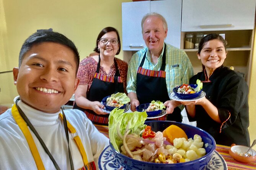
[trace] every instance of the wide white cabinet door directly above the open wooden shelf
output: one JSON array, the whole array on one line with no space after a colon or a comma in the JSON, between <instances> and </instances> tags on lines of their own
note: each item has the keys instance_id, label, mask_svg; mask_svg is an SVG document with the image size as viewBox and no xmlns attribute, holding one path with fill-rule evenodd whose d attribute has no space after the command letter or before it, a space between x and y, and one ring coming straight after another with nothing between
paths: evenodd
<instances>
[{"instance_id":1,"label":"wide white cabinet door directly above the open wooden shelf","mask_svg":"<svg viewBox=\"0 0 256 170\"><path fill-rule=\"evenodd\" d=\"M183 0L181 31L254 29L256 0Z\"/></svg>"}]
</instances>

